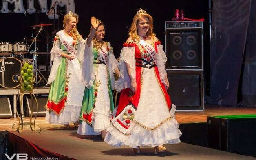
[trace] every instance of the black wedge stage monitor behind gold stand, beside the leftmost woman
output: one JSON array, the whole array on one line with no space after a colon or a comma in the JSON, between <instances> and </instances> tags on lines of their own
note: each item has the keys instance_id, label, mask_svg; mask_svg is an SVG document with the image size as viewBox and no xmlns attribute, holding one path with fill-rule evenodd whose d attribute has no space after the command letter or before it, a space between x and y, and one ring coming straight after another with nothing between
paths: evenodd
<instances>
[{"instance_id":1,"label":"black wedge stage monitor behind gold stand, beside the leftmost woman","mask_svg":"<svg viewBox=\"0 0 256 160\"><path fill-rule=\"evenodd\" d=\"M37 116L45 116L46 115L46 109L44 106L47 102L47 96L38 96L37 102L38 102L38 112L36 112L37 106L35 99L33 99L33 116L37 113ZM32 100L30 97L26 97L26 111L24 112L26 116L30 116L32 111Z\"/></svg>"}]
</instances>

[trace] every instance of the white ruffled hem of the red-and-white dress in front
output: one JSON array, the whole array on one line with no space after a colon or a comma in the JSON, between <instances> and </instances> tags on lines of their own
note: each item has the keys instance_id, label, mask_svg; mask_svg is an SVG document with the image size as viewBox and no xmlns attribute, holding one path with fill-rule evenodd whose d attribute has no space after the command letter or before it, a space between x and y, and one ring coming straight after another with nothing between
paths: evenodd
<instances>
[{"instance_id":1,"label":"white ruffled hem of the red-and-white dress in front","mask_svg":"<svg viewBox=\"0 0 256 160\"><path fill-rule=\"evenodd\" d=\"M170 114L175 112L175 105L173 105ZM132 134L126 136L119 131L113 125L107 128L107 134L104 141L115 147L121 147L121 145L128 145L136 148L137 146L149 146L156 147L163 144L178 144L180 143L179 123L175 118L172 118L154 131L144 129L143 127L132 123L130 127L133 127ZM121 130L121 128L119 128Z\"/></svg>"}]
</instances>

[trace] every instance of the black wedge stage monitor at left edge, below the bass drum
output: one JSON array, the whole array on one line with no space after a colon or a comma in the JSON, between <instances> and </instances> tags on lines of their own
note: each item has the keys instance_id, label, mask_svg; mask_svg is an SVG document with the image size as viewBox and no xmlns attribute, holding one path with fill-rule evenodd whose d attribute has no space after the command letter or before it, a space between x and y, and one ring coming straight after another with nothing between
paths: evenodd
<instances>
[{"instance_id":1,"label":"black wedge stage monitor at left edge, below the bass drum","mask_svg":"<svg viewBox=\"0 0 256 160\"><path fill-rule=\"evenodd\" d=\"M12 116L9 98L0 98L0 118L11 118Z\"/></svg>"}]
</instances>

